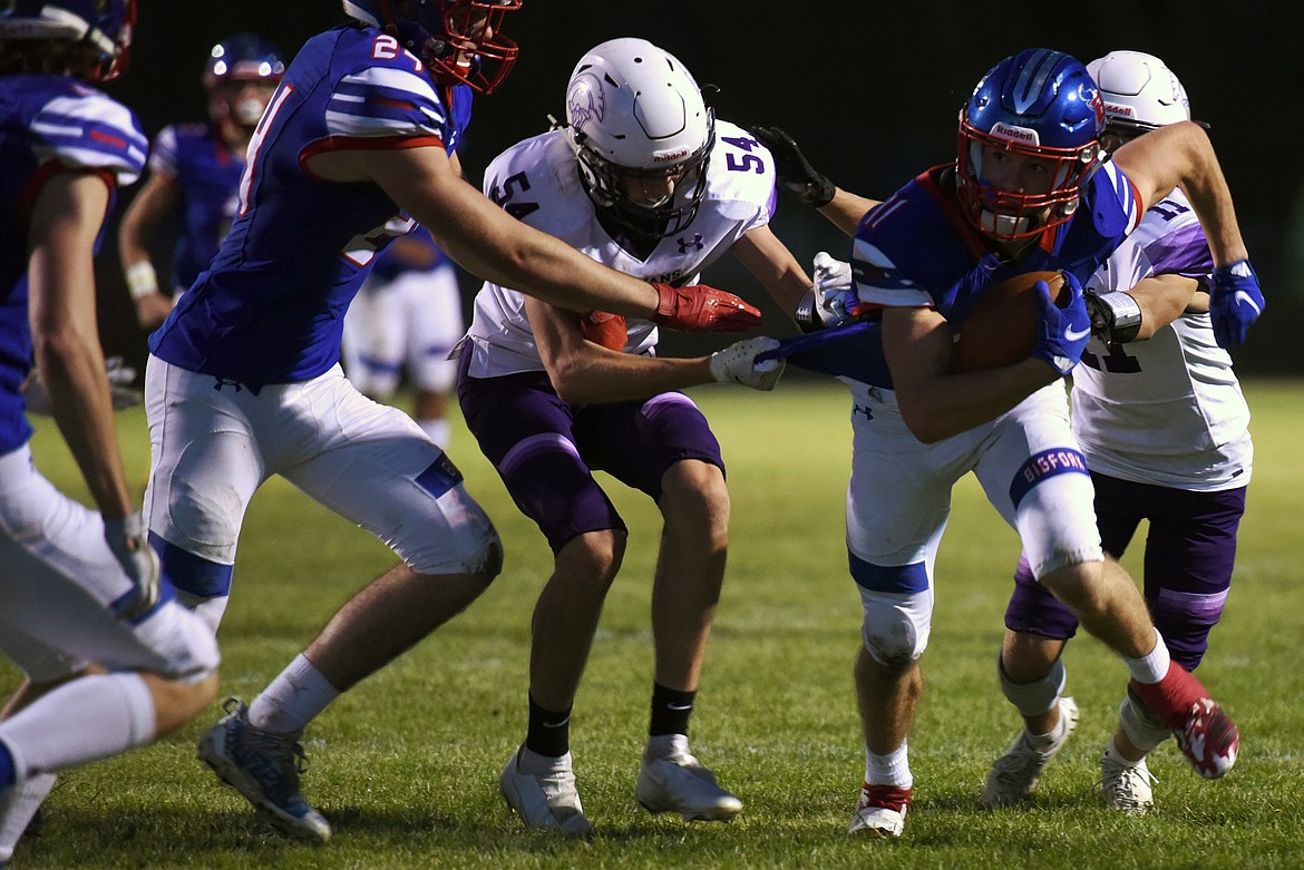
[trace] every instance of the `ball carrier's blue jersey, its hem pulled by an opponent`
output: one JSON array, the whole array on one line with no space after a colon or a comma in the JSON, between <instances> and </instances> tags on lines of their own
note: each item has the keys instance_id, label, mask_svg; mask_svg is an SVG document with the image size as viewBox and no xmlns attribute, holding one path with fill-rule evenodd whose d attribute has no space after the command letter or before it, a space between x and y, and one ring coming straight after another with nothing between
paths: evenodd
<instances>
[{"instance_id":1,"label":"ball carrier's blue jersey, its hem pulled by an opponent","mask_svg":"<svg viewBox=\"0 0 1304 870\"><path fill-rule=\"evenodd\" d=\"M934 309L958 333L975 300L1015 275L1063 270L1085 283L1141 219L1132 184L1104 161L1082 182L1072 219L1042 233L1017 260L1003 262L960 212L953 177L953 167L935 167L861 219L852 275L862 302ZM824 361L822 371L892 387L878 328L831 353L837 359Z\"/></svg>"}]
</instances>

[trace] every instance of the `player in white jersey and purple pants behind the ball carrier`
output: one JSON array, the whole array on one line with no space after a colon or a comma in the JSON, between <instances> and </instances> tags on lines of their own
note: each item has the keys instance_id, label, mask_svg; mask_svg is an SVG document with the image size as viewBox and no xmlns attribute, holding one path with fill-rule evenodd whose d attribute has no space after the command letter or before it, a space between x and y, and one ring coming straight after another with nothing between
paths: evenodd
<instances>
[{"instance_id":1,"label":"player in white jersey and purple pants behind the ball carrier","mask_svg":"<svg viewBox=\"0 0 1304 870\"><path fill-rule=\"evenodd\" d=\"M1185 89L1153 55L1115 51L1088 65L1104 100L1112 150L1191 120ZM1086 283L1093 339L1073 371L1073 432L1095 487L1106 552L1121 557L1141 520L1145 598L1175 662L1194 671L1231 586L1253 447L1249 408L1209 316L1209 244L1180 189L1151 206ZM983 804L1031 797L1077 722L1063 697L1060 654L1072 612L1033 582L1020 560L998 659L1001 688L1025 729L992 766ZM1171 732L1134 692L1101 759L1104 802L1124 813L1153 805L1146 753Z\"/></svg>"}]
</instances>

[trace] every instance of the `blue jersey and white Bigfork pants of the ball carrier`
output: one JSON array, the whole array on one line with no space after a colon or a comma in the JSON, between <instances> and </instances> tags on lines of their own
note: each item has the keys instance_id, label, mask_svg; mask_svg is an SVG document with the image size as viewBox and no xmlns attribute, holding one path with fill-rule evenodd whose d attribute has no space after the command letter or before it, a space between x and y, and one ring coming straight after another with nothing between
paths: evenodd
<instances>
[{"instance_id":1,"label":"blue jersey and white Bigfork pants of the ball carrier","mask_svg":"<svg viewBox=\"0 0 1304 870\"><path fill-rule=\"evenodd\" d=\"M962 331L987 287L1038 270L1085 280L1140 221L1136 193L1110 161L1084 181L1081 199L1068 223L1009 266L956 207L953 168L934 168L862 219L852 254L857 292L883 307L935 309ZM862 345L853 376L844 378L853 395L846 540L875 659L904 663L927 646L951 490L970 471L1018 531L1034 576L1102 559L1091 481L1059 383L990 422L923 444L897 409L880 333L867 332Z\"/></svg>"}]
</instances>

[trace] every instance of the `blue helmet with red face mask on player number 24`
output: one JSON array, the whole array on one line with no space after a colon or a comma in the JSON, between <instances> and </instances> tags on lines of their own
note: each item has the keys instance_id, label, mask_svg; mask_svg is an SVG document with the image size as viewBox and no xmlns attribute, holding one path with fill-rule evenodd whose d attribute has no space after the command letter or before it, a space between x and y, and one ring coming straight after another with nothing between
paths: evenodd
<instances>
[{"instance_id":1,"label":"blue helmet with red face mask on player number 24","mask_svg":"<svg viewBox=\"0 0 1304 870\"><path fill-rule=\"evenodd\" d=\"M441 85L492 94L516 63L502 20L522 0L343 0L344 13L379 27L421 59ZM400 14L400 9L411 9Z\"/></svg>"}]
</instances>

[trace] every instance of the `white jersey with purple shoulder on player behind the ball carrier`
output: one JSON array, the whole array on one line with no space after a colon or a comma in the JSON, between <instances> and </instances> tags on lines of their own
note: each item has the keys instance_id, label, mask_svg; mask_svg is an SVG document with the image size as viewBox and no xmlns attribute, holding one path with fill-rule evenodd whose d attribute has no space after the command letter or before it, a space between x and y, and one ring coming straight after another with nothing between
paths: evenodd
<instances>
[{"instance_id":1,"label":"white jersey with purple shoulder on player behind the ball carrier","mask_svg":"<svg viewBox=\"0 0 1304 870\"><path fill-rule=\"evenodd\" d=\"M1211 267L1204 231L1174 190L1088 287L1129 290L1150 275L1200 277ZM1091 339L1073 370L1072 399L1073 431L1093 471L1193 491L1249 483L1249 408L1208 313L1183 314L1112 352Z\"/></svg>"}]
</instances>

